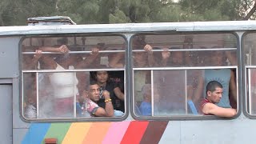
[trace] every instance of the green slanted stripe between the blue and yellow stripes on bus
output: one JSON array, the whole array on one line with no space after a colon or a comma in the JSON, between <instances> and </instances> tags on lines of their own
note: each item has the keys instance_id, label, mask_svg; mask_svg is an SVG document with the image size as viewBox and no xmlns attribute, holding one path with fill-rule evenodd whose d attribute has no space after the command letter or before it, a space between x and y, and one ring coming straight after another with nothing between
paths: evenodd
<instances>
[{"instance_id":1,"label":"green slanted stripe between the blue and yellow stripes on bus","mask_svg":"<svg viewBox=\"0 0 256 144\"><path fill-rule=\"evenodd\" d=\"M70 129L71 123L52 123L46 133L45 138L57 138L58 143L62 143L66 132ZM44 140L42 141L44 144Z\"/></svg>"}]
</instances>

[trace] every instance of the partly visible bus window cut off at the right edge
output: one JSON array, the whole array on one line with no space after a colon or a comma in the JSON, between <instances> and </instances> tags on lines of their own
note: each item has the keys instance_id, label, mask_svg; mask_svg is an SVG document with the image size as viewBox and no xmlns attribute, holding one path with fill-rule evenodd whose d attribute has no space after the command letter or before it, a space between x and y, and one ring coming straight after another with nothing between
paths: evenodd
<instances>
[{"instance_id":1,"label":"partly visible bus window cut off at the right edge","mask_svg":"<svg viewBox=\"0 0 256 144\"><path fill-rule=\"evenodd\" d=\"M256 43L255 33L245 34L242 38L244 63L246 70L246 112L256 114Z\"/></svg>"}]
</instances>

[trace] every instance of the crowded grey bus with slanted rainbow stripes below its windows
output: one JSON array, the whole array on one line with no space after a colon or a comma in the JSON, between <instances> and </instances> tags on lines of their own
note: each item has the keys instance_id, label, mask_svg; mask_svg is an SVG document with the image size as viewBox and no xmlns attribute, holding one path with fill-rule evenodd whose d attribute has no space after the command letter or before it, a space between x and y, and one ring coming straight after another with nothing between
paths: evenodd
<instances>
[{"instance_id":1,"label":"crowded grey bus with slanted rainbow stripes below its windows","mask_svg":"<svg viewBox=\"0 0 256 144\"><path fill-rule=\"evenodd\" d=\"M60 19L0 27L2 142L254 142L255 21L76 25ZM88 111L87 88L100 80L112 86L105 102L122 114ZM235 109L234 116L202 114L206 80L222 83L218 106Z\"/></svg>"}]
</instances>

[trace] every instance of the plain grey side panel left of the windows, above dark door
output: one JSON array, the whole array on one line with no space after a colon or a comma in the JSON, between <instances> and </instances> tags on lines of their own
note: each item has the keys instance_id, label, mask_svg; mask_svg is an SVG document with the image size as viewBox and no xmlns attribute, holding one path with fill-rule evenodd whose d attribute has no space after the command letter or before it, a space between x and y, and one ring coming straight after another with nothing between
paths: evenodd
<instances>
[{"instance_id":1,"label":"plain grey side panel left of the windows, above dark door","mask_svg":"<svg viewBox=\"0 0 256 144\"><path fill-rule=\"evenodd\" d=\"M0 38L0 78L17 78L18 42L20 38Z\"/></svg>"}]
</instances>

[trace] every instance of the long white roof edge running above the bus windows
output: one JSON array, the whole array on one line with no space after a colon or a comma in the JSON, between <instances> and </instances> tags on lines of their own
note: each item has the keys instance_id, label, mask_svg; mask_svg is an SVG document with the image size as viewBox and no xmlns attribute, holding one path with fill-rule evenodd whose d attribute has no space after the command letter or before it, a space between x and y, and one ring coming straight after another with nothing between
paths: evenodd
<instances>
[{"instance_id":1,"label":"long white roof edge running above the bus windows","mask_svg":"<svg viewBox=\"0 0 256 144\"><path fill-rule=\"evenodd\" d=\"M154 22L54 26L0 26L0 36L26 34L136 33L256 30L256 21Z\"/></svg>"}]
</instances>

